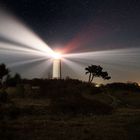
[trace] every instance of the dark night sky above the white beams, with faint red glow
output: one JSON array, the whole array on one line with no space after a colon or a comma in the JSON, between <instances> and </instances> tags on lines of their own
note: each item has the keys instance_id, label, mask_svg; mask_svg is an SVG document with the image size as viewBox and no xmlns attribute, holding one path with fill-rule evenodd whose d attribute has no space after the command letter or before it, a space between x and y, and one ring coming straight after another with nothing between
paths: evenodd
<instances>
[{"instance_id":1,"label":"dark night sky above the white beams, with faint red glow","mask_svg":"<svg viewBox=\"0 0 140 140\"><path fill-rule=\"evenodd\" d=\"M1 5L65 53L140 48L139 0L3 0ZM137 60L137 73L139 66ZM135 72L126 77L130 73ZM140 82L135 77L125 80Z\"/></svg>"}]
</instances>

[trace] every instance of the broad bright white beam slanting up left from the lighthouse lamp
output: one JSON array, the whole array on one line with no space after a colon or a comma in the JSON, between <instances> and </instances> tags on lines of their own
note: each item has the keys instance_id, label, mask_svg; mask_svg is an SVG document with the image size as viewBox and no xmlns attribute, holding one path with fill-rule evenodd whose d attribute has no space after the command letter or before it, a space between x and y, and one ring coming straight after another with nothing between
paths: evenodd
<instances>
[{"instance_id":1,"label":"broad bright white beam slanting up left from the lighthouse lamp","mask_svg":"<svg viewBox=\"0 0 140 140\"><path fill-rule=\"evenodd\" d=\"M30 46L33 50L45 52L46 55L53 53L53 50L33 31L21 23L14 15L4 10L0 10L0 39L1 38Z\"/></svg>"}]
</instances>

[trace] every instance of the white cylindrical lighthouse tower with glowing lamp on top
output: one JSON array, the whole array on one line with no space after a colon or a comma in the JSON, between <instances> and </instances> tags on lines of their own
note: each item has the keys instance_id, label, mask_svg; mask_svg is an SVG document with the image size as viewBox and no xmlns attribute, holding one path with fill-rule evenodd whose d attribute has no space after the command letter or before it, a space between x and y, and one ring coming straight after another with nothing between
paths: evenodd
<instances>
[{"instance_id":1,"label":"white cylindrical lighthouse tower with glowing lamp on top","mask_svg":"<svg viewBox=\"0 0 140 140\"><path fill-rule=\"evenodd\" d=\"M61 55L59 53L54 55L52 78L61 79Z\"/></svg>"}]
</instances>

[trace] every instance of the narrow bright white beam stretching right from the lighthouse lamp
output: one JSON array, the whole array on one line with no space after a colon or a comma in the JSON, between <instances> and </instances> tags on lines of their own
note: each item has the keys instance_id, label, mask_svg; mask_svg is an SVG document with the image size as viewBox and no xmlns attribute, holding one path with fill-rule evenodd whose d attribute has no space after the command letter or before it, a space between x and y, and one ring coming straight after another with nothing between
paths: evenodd
<instances>
[{"instance_id":1,"label":"narrow bright white beam stretching right from the lighthouse lamp","mask_svg":"<svg viewBox=\"0 0 140 140\"><path fill-rule=\"evenodd\" d=\"M124 61L131 60L137 61L140 58L140 48L127 48L127 49L116 49L107 51L95 51L95 52L83 52L83 53L72 53L63 54L64 58L70 59L86 59L86 60L110 60L110 61ZM125 59L124 59L125 58Z\"/></svg>"}]
</instances>

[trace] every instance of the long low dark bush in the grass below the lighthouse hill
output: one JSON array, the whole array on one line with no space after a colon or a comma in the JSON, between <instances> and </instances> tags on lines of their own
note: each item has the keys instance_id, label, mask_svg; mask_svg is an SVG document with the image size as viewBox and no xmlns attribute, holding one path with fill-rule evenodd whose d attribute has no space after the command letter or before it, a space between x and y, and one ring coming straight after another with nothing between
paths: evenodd
<instances>
[{"instance_id":1,"label":"long low dark bush in the grass below the lighthouse hill","mask_svg":"<svg viewBox=\"0 0 140 140\"><path fill-rule=\"evenodd\" d=\"M83 115L103 115L110 114L113 111L113 108L108 104L96 100L89 101L84 98L79 100L57 100L52 103L51 109L54 113Z\"/></svg>"}]
</instances>

